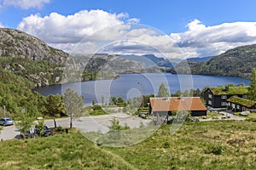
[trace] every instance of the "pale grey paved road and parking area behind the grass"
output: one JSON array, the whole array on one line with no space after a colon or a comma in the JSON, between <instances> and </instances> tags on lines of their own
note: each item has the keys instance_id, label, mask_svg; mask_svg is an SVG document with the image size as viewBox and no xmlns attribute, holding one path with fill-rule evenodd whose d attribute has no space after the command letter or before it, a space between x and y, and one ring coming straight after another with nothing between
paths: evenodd
<instances>
[{"instance_id":1,"label":"pale grey paved road and parking area behind the grass","mask_svg":"<svg viewBox=\"0 0 256 170\"><path fill-rule=\"evenodd\" d=\"M79 120L73 121L73 127L77 127L81 132L98 132L108 133L108 126L110 125L110 121L113 118L117 118L121 125L125 125L127 123L129 127L139 127L141 122L144 125L147 125L150 120L142 119L137 116L128 116L126 114L117 113L113 115L104 115L104 116L84 116ZM57 127L69 127L69 119L56 119ZM46 120L45 124L48 127L54 127L53 120ZM0 139L8 140L15 139L15 137L19 136L20 132L15 126L3 127L3 130L0 133Z\"/></svg>"}]
</instances>

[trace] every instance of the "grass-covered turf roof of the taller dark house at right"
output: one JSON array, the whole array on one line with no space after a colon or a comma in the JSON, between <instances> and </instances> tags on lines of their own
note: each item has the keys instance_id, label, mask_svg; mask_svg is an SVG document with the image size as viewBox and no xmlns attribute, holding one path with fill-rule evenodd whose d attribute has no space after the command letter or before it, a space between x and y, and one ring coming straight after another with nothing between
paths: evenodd
<instances>
[{"instance_id":1,"label":"grass-covered turf roof of the taller dark house at right","mask_svg":"<svg viewBox=\"0 0 256 170\"><path fill-rule=\"evenodd\" d=\"M248 88L247 87L229 87L229 90L226 90L225 87L215 87L209 88L214 95L238 95L238 94L247 94Z\"/></svg>"}]
</instances>

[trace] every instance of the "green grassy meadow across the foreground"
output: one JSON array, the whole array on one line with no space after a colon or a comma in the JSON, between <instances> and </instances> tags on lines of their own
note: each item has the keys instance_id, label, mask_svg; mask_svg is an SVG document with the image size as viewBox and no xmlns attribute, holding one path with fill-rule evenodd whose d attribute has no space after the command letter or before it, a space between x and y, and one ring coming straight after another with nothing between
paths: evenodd
<instances>
[{"instance_id":1,"label":"green grassy meadow across the foreground","mask_svg":"<svg viewBox=\"0 0 256 170\"><path fill-rule=\"evenodd\" d=\"M169 131L164 125L126 147L97 145L81 133L4 141L0 169L256 169L255 122L187 122Z\"/></svg>"}]
</instances>

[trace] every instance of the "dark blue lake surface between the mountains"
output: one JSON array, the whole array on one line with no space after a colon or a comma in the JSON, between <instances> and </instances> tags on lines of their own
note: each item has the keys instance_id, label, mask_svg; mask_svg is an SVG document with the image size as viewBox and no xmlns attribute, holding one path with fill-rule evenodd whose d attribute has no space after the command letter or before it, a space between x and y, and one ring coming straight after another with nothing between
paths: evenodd
<instances>
[{"instance_id":1,"label":"dark blue lake surface between the mountains","mask_svg":"<svg viewBox=\"0 0 256 170\"><path fill-rule=\"evenodd\" d=\"M177 90L224 86L227 83L234 83L235 85L240 83L249 84L248 79L239 77L172 75L170 73L120 74L119 76L119 79L69 82L62 85L35 88L33 91L47 96L49 94L64 94L67 88L73 88L84 96L85 104L90 105L92 100L96 103L102 103L102 96L104 96L104 102L108 102L111 96L132 99L142 94L157 94L161 82L166 84L172 94L176 93Z\"/></svg>"}]
</instances>

